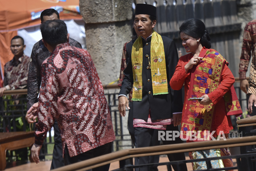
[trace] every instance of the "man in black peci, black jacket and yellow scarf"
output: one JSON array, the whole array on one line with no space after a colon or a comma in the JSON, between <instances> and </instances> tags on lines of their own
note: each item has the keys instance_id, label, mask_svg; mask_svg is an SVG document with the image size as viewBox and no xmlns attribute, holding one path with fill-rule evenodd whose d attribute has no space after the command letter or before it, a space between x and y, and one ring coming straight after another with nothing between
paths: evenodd
<instances>
[{"instance_id":1,"label":"man in black peci, black jacket and yellow scarf","mask_svg":"<svg viewBox=\"0 0 256 171\"><path fill-rule=\"evenodd\" d=\"M118 96L118 109L126 115L129 102L126 95L133 89L133 126L135 147L159 145L159 131L179 131L181 121L181 90L174 91L169 82L178 63L177 48L173 40L162 37L153 28L156 24L156 8L148 4L137 4L135 8L134 29L138 38L126 46L124 79ZM181 143L180 138L163 141L163 144ZM185 160L184 153L168 154L170 161ZM152 158L153 159L153 158ZM159 157L135 158L135 165L159 162ZM176 165L173 165L175 170ZM187 170L185 164L181 170ZM136 170L157 170L156 167L137 168Z\"/></svg>"}]
</instances>

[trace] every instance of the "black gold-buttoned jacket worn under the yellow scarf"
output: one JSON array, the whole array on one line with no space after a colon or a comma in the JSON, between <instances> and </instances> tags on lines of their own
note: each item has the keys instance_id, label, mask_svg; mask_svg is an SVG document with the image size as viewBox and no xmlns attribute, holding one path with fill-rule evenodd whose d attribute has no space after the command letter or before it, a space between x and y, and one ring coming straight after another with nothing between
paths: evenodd
<instances>
[{"instance_id":1,"label":"black gold-buttoned jacket worn under the yellow scarf","mask_svg":"<svg viewBox=\"0 0 256 171\"><path fill-rule=\"evenodd\" d=\"M138 119L147 120L149 109L151 110L151 119L166 119L172 117L172 113L182 112L182 92L181 90L171 89L169 82L172 75L174 74L175 67L178 63L178 53L174 41L170 38L163 37L164 54L166 60L166 71L167 71L167 85L168 94L153 95L152 93L152 80L151 70L147 69L148 58L146 54L150 55L151 37L147 38L147 42L142 38L143 47L143 61L142 61L142 101L133 101L133 117ZM120 94L127 95L132 89L133 85L133 73L132 73L132 62L131 62L131 51L132 45L135 40L129 42L126 45L126 64L127 67L124 70L124 79L122 82ZM149 81L148 81L149 80ZM151 91L151 93L149 93ZM130 102L131 103L131 102Z\"/></svg>"}]
</instances>

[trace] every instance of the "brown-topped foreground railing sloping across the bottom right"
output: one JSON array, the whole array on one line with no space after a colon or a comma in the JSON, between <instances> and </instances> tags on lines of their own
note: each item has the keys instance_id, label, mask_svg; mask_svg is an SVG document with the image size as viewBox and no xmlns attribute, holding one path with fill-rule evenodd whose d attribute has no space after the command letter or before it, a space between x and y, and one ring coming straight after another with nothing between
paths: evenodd
<instances>
[{"instance_id":1,"label":"brown-topped foreground railing sloping across the bottom right","mask_svg":"<svg viewBox=\"0 0 256 171\"><path fill-rule=\"evenodd\" d=\"M125 149L118 152L114 152L111 154L102 155L100 157L95 157L86 161L81 161L72 165L67 165L58 169L54 169L54 171L81 171L93 169L95 167L99 167L102 165L109 164L114 161L120 161L133 157L144 157L144 156L153 156L153 155L162 155L162 154L172 154L172 153L184 153L190 151L198 151L198 150L207 150L207 149L219 149L219 148L227 148L227 147L238 147L244 145L255 145L256 144L256 136L250 137L242 137L242 138L230 138L226 141L201 141L201 142L190 142L190 143L182 143L179 145L160 145L153 147L143 147L136 149ZM184 161L172 161L172 162L164 162L164 163L151 163L149 165L126 165L123 168L116 169L115 171L128 170L131 168L138 167L147 167L147 166L159 166L159 165L167 165L170 170L170 165L177 165L179 168L180 164L197 162L197 161L206 161L207 170L223 170L222 169L211 169L210 161L214 159L226 159L232 158L237 160L237 166L225 168L225 170L229 169L238 169L239 171L244 171L245 168L241 166L241 158L246 159L246 162L255 162L251 161L252 157L256 157L256 153L251 154L242 154L242 155L234 155L234 156L225 156L225 157L211 157L204 159L195 159L195 160L184 160ZM252 168L248 165L246 171L252 171Z\"/></svg>"}]
</instances>

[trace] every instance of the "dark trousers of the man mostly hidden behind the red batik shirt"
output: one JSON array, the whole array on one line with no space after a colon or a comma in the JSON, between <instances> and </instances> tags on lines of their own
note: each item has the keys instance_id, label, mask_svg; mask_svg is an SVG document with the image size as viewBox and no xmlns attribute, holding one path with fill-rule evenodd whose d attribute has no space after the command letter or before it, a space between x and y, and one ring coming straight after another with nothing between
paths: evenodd
<instances>
[{"instance_id":1,"label":"dark trousers of the man mostly hidden behind the red batik shirt","mask_svg":"<svg viewBox=\"0 0 256 171\"><path fill-rule=\"evenodd\" d=\"M62 148L62 142L61 142L61 136L60 136L60 130L57 121L55 120L53 124L54 128L54 148L52 153L52 169L57 169L59 167L65 166L64 159L62 157L63 148Z\"/></svg>"}]
</instances>

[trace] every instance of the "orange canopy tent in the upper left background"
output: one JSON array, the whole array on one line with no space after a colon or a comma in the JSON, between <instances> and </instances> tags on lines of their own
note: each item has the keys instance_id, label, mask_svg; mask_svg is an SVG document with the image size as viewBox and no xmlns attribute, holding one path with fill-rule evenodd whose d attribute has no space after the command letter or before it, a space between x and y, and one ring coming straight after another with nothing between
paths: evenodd
<instances>
[{"instance_id":1,"label":"orange canopy tent in the upper left background","mask_svg":"<svg viewBox=\"0 0 256 171\"><path fill-rule=\"evenodd\" d=\"M48 8L57 10L62 20L82 20L79 0L0 0L0 60L2 72L5 63L13 58L10 51L11 38L17 35L17 30L40 25L40 14ZM2 87L2 78L0 79L0 87Z\"/></svg>"}]
</instances>

